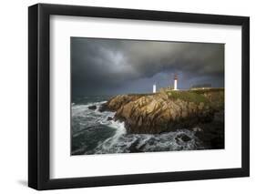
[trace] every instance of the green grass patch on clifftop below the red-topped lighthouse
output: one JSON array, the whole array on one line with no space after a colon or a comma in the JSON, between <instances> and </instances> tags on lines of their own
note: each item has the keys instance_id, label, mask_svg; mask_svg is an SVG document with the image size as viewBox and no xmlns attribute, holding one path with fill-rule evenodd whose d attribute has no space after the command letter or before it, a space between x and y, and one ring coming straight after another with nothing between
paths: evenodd
<instances>
[{"instance_id":1,"label":"green grass patch on clifftop below the red-topped lighthouse","mask_svg":"<svg viewBox=\"0 0 256 194\"><path fill-rule=\"evenodd\" d=\"M193 91L168 91L167 94L171 99L180 99L197 104L200 102L209 103L206 97Z\"/></svg>"}]
</instances>

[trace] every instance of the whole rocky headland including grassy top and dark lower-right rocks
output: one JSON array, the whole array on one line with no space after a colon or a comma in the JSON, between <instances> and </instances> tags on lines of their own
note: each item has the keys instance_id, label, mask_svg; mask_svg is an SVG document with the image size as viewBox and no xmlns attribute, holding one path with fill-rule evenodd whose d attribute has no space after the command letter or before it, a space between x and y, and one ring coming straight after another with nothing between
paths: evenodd
<instances>
[{"instance_id":1,"label":"whole rocky headland including grassy top and dark lower-right rocks","mask_svg":"<svg viewBox=\"0 0 256 194\"><path fill-rule=\"evenodd\" d=\"M113 119L124 121L128 133L159 134L187 128L195 131L206 148L224 148L223 88L119 95L98 110L115 111Z\"/></svg>"}]
</instances>

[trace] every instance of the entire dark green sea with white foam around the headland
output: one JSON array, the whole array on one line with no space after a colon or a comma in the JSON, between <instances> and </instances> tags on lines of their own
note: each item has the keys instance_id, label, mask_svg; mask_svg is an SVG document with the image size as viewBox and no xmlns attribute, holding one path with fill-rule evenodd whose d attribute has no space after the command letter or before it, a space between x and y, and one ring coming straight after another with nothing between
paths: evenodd
<instances>
[{"instance_id":1,"label":"entire dark green sea with white foam around the headland","mask_svg":"<svg viewBox=\"0 0 256 194\"><path fill-rule=\"evenodd\" d=\"M72 103L72 155L131 153L151 151L200 149L200 140L193 131L178 129L175 132L128 134L124 123L108 120L114 112L99 112L98 107L109 97L80 97ZM89 109L90 106L97 109ZM183 141L180 135L189 137Z\"/></svg>"}]
</instances>

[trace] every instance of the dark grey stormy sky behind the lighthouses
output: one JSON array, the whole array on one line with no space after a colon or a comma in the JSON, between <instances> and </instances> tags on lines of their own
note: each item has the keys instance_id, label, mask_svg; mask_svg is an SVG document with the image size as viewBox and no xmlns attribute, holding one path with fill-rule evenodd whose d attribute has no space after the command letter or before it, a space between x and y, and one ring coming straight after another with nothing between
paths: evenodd
<instances>
[{"instance_id":1,"label":"dark grey stormy sky behind the lighthouses","mask_svg":"<svg viewBox=\"0 0 256 194\"><path fill-rule=\"evenodd\" d=\"M152 85L224 87L224 45L71 37L72 95L150 93Z\"/></svg>"}]
</instances>

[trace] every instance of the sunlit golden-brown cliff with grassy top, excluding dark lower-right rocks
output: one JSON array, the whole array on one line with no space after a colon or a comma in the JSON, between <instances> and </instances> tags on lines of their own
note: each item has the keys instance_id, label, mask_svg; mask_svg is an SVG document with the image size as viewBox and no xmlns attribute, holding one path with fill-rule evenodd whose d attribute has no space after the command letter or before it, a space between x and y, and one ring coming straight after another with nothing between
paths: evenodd
<instances>
[{"instance_id":1,"label":"sunlit golden-brown cliff with grassy top, excluding dark lower-right rocks","mask_svg":"<svg viewBox=\"0 0 256 194\"><path fill-rule=\"evenodd\" d=\"M200 91L200 94L176 91L119 95L108 100L105 106L116 111L115 120L125 121L129 133L162 133L211 122L215 113L224 111L223 93L224 90L214 90Z\"/></svg>"}]
</instances>

